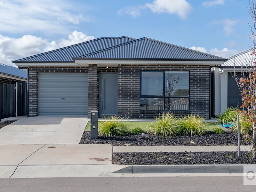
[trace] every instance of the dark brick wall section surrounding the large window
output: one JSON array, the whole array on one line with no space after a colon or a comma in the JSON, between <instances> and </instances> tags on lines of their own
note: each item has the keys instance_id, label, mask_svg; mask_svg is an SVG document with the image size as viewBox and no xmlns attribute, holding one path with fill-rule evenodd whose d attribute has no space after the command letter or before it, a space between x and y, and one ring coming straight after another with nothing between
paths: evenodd
<instances>
[{"instance_id":1,"label":"dark brick wall section surrounding the large window","mask_svg":"<svg viewBox=\"0 0 256 192\"><path fill-rule=\"evenodd\" d=\"M163 111L140 111L140 71L190 71L190 113L209 118L209 66L208 65L118 65L118 116L150 118ZM177 116L180 111L174 111Z\"/></svg>"}]
</instances>

